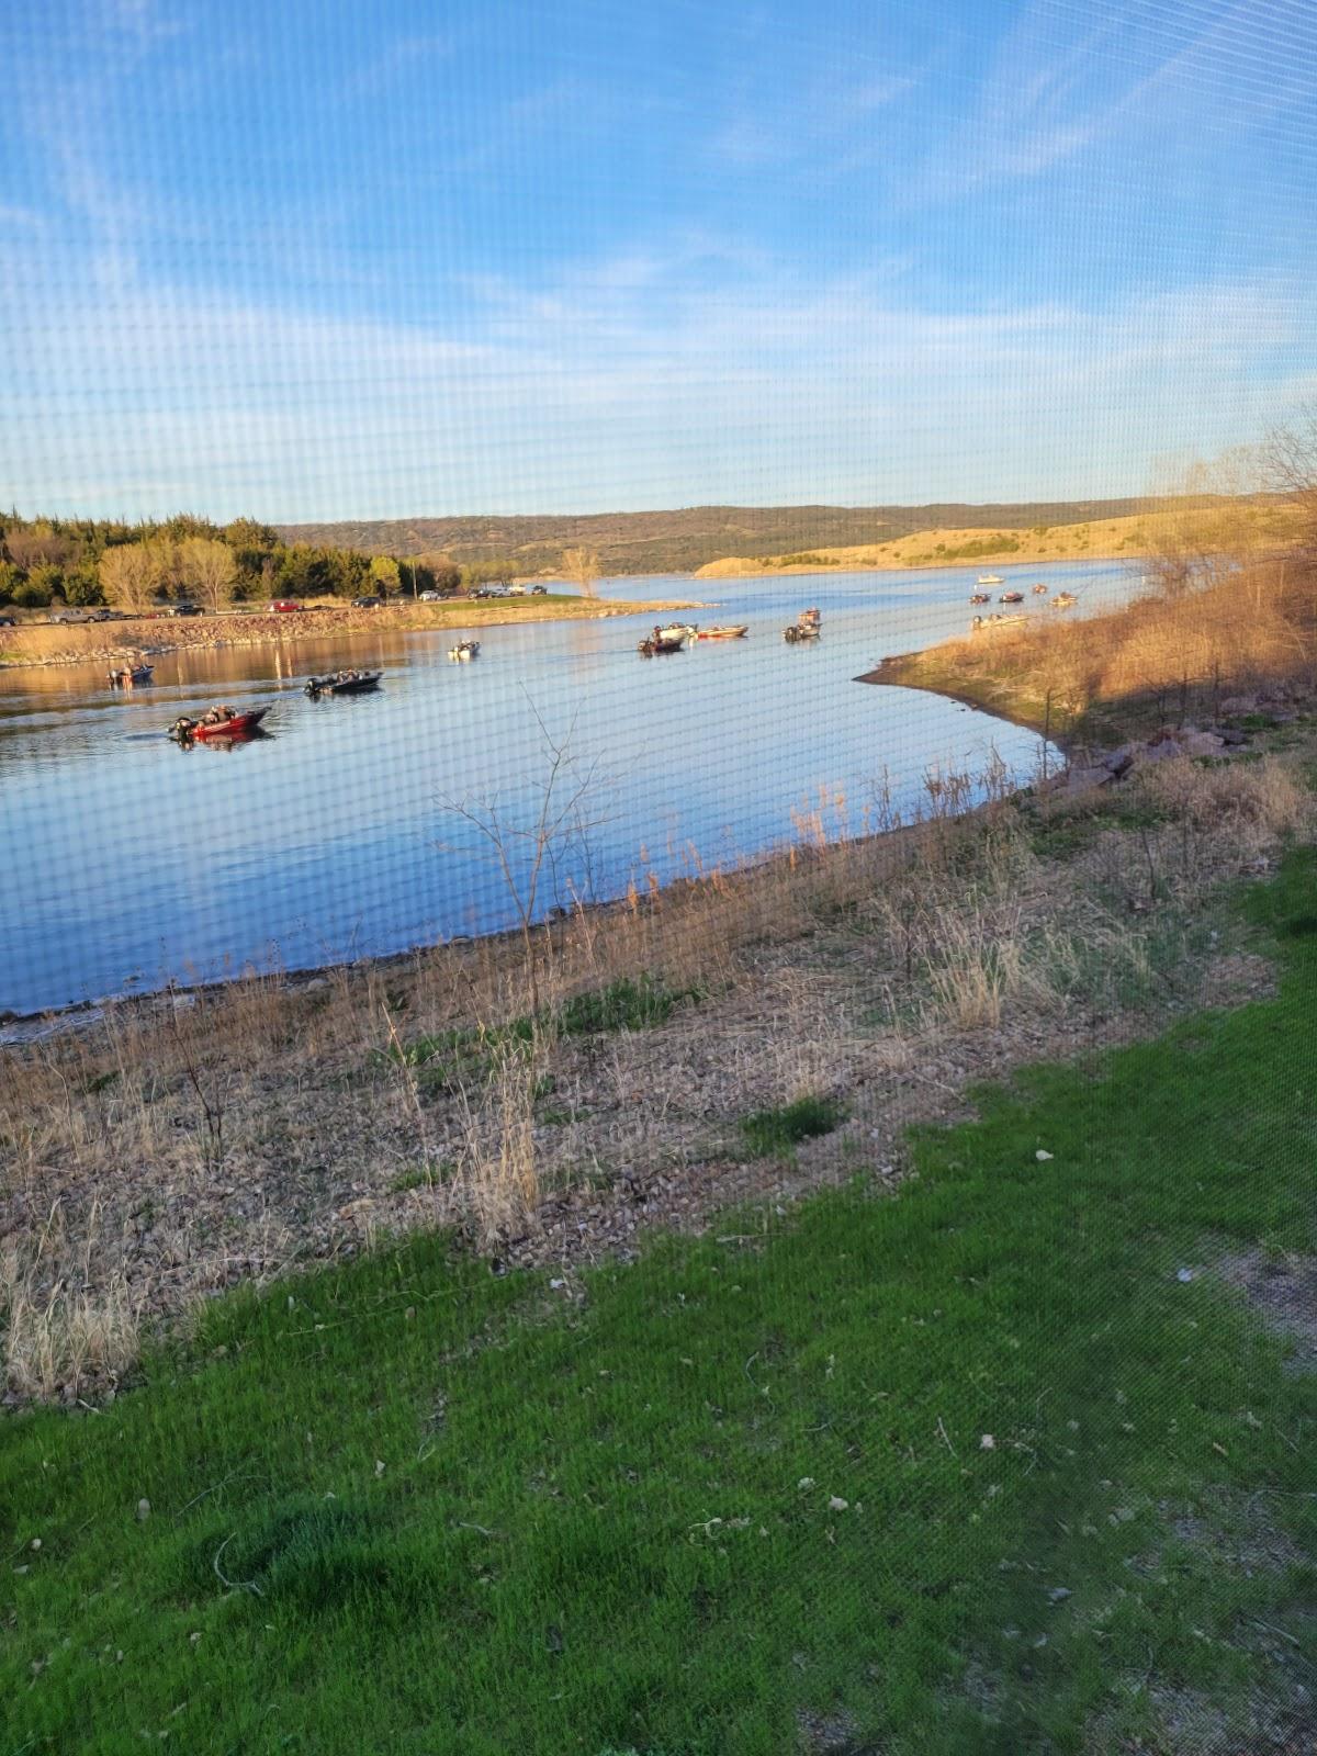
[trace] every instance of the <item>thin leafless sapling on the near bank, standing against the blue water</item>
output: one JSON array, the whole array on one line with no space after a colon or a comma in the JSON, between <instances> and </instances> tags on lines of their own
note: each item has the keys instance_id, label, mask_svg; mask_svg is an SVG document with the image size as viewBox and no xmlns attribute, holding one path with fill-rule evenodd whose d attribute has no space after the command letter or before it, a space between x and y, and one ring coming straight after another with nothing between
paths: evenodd
<instances>
[{"instance_id":1,"label":"thin leafless sapling on the near bank, standing against the blue water","mask_svg":"<svg viewBox=\"0 0 1317 1756\"><path fill-rule=\"evenodd\" d=\"M539 1013L539 946L536 925L544 904L544 892L557 890L562 859L571 848L583 850L588 862L588 838L606 822L590 815L588 801L599 785L599 759L585 769L571 753L576 716L564 738L553 738L536 704L527 695L530 711L544 739L544 774L537 781L539 801L520 822L497 797L486 801L443 799L446 811L476 831L485 859L499 873L516 913L522 938L530 1011ZM443 843L451 848L451 843Z\"/></svg>"}]
</instances>

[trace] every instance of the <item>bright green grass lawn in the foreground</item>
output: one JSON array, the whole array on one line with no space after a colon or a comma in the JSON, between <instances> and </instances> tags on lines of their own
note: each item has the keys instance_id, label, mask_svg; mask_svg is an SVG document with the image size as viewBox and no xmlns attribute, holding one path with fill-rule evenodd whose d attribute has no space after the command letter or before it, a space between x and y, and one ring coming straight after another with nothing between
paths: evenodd
<instances>
[{"instance_id":1,"label":"bright green grass lawn in the foreground","mask_svg":"<svg viewBox=\"0 0 1317 1756\"><path fill-rule=\"evenodd\" d=\"M0 1751L1291 1731L1317 1380L1212 1263L1313 1245L1315 876L1250 903L1277 999L985 1094L894 1198L565 1289L418 1240L216 1301L102 1412L9 1419Z\"/></svg>"}]
</instances>

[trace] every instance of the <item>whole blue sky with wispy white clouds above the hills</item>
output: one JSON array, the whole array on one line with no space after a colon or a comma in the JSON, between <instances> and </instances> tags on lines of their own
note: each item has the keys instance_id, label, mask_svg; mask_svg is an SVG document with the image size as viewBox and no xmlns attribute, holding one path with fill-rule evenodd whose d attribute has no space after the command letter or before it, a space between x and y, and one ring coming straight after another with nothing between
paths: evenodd
<instances>
[{"instance_id":1,"label":"whole blue sky with wispy white clouds above the hills","mask_svg":"<svg viewBox=\"0 0 1317 1756\"><path fill-rule=\"evenodd\" d=\"M1317 395L1312 0L46 0L0 499L1147 492Z\"/></svg>"}]
</instances>

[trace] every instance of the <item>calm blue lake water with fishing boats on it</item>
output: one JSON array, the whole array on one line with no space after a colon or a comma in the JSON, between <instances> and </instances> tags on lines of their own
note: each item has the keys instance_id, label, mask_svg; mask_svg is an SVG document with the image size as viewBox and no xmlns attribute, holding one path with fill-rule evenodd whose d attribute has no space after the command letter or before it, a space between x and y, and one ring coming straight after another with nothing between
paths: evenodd
<instances>
[{"instance_id":1,"label":"calm blue lake water with fishing boats on it","mask_svg":"<svg viewBox=\"0 0 1317 1756\"><path fill-rule=\"evenodd\" d=\"M1120 564L1001 571L1082 609L1124 601ZM1006 587L994 587L997 595ZM825 804L832 832L906 811L929 771L1036 773L1040 739L911 690L853 678L885 653L964 632L973 569L604 581L604 595L701 599L690 620L750 636L644 660L644 622L381 634L156 660L155 687L111 694L104 666L0 673L0 1010L19 1013L170 978L309 968L507 927L515 904L460 808L493 808L518 857L567 745L557 801L594 774L587 838L555 843L541 910L762 853ZM824 637L788 646L806 604ZM1052 615L1047 599L1026 599ZM1073 611L1071 611L1073 613ZM378 694L309 701L316 669L383 666ZM272 736L181 750L179 713L269 708ZM543 729L541 729L543 725ZM838 806L838 801L843 801Z\"/></svg>"}]
</instances>

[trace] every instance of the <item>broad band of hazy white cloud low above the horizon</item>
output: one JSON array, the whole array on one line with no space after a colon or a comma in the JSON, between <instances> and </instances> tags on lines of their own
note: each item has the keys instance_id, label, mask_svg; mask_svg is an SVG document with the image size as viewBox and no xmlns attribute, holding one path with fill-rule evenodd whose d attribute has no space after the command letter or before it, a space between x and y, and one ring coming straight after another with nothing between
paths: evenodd
<instances>
[{"instance_id":1,"label":"broad band of hazy white cloud low above the horizon","mask_svg":"<svg viewBox=\"0 0 1317 1756\"><path fill-rule=\"evenodd\" d=\"M486 283L448 328L132 281L37 300L11 274L0 479L25 507L274 518L1122 492L1155 451L1264 425L1313 341L1250 284L1110 311L894 295L715 239Z\"/></svg>"}]
</instances>

